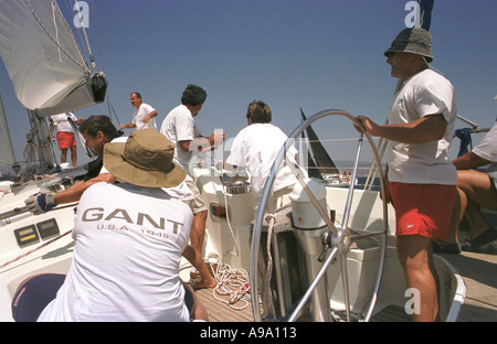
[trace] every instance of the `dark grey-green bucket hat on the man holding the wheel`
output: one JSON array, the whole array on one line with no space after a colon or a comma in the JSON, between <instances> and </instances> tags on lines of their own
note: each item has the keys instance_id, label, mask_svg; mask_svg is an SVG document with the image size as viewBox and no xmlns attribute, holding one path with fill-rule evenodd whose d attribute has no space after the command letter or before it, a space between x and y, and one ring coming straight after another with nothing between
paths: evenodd
<instances>
[{"instance_id":1,"label":"dark grey-green bucket hat on the man holding the wheel","mask_svg":"<svg viewBox=\"0 0 497 344\"><path fill-rule=\"evenodd\" d=\"M431 63L433 61L432 34L421 28L402 30L383 55L390 57L392 53L400 52L422 55L427 63Z\"/></svg>"}]
</instances>

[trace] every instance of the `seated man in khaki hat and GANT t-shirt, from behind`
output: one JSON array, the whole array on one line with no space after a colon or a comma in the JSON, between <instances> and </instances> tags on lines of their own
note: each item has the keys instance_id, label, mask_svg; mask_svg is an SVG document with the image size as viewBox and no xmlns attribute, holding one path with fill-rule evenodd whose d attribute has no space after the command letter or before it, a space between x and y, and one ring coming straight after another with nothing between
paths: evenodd
<instances>
[{"instance_id":1,"label":"seated man in khaki hat and GANT t-shirt, from behind","mask_svg":"<svg viewBox=\"0 0 497 344\"><path fill-rule=\"evenodd\" d=\"M14 320L208 320L179 278L193 215L162 190L186 178L172 162L173 151L154 129L105 146L104 165L119 183L96 183L85 191L67 276L41 275L22 284L12 303Z\"/></svg>"}]
</instances>

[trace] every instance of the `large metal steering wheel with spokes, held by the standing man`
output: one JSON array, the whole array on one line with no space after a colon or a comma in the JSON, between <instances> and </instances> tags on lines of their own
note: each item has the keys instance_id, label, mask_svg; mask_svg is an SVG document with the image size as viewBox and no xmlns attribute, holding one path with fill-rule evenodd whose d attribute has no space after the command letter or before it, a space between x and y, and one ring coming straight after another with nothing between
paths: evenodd
<instances>
[{"instance_id":1,"label":"large metal steering wheel with spokes, held by the standing man","mask_svg":"<svg viewBox=\"0 0 497 344\"><path fill-rule=\"evenodd\" d=\"M358 139L358 149L356 154L356 161L352 170L351 175L351 183L348 191L347 202L346 202L346 208L343 212L343 218L341 221L341 227L337 227L334 222L330 219L329 214L326 209L322 208L321 204L317 201L313 192L307 187L305 182L303 181L300 174L298 173L298 166L295 165L295 162L290 163L289 161L286 161L286 152L288 149L295 144L295 140L302 135L302 132L309 127L315 121L329 117L329 116L340 116L349 119L356 127L361 129L361 132L358 135L360 136ZM350 251L350 246L352 243L358 241L363 238L370 238L373 237L373 239L379 243L380 245L380 252L378 257L378 270L376 275L376 279L373 283L366 283L367 286L363 286L364 283L358 283L356 286L358 289L361 288L368 288L370 290L366 291L369 292L369 297L366 298L366 303L360 308L359 314L353 314L356 320L359 321L369 321L378 298L378 292L380 288L381 277L383 273L383 265L385 259L385 251L387 251L387 238L388 238L388 204L387 204L387 196L385 196L385 184L384 184L384 178L382 174L381 169L378 169L379 172L379 179L380 179L380 194L382 200L382 207L383 207L383 223L382 223L382 229L381 230L366 230L366 229L353 229L351 230L348 227L349 219L351 218L351 204L352 198L355 194L355 181L357 178L357 170L359 164L359 159L361 154L362 149L362 142L363 138L366 137L367 141L369 142L369 146L371 148L371 151L373 153L374 162L377 166L381 166L381 159L379 158L378 150L376 148L374 141L363 130L363 127L356 120L356 118L348 112L341 111L341 110L325 110L317 112L313 116L310 116L307 120L302 122L290 135L288 140L285 142L285 144L279 150L278 155L276 157L273 166L271 169L269 175L266 180L265 186L262 192L261 196L261 205L258 207L258 211L255 216L255 223L254 223L254 229L253 229L253 236L252 236L252 248L251 248L251 270L250 270L250 279L251 279L251 298L252 298L252 311L254 315L255 321L261 321L261 309L260 309L260 302L258 302L258 277L257 277L257 266L258 266L258 259L263 255L260 255L261 249L261 232L263 226L263 219L265 216L264 209L266 208L266 203L272 202L272 186L275 180L275 176L279 169L283 165L283 162L286 162L286 165L289 165L290 169L294 171L295 176L297 178L298 182L303 186L304 191L306 192L307 196L309 197L310 202L313 203L316 211L319 213L319 215L322 217L324 222L327 226L327 232L322 235L322 248L324 254L321 254L322 264L321 267L318 269L318 271L314 276L314 280L309 281L308 289L302 297L300 301L297 302L297 305L292 311L292 314L286 318L287 321L295 321L297 316L300 314L302 310L306 305L307 301L311 298L313 293L316 292L316 288L318 287L319 282L325 278L327 278L327 271L330 269L330 264L336 260L337 258L340 260L340 272L341 272L341 279L342 279L342 290L343 290L343 301L345 301L345 313L347 321L352 320L351 314L351 302L350 302L350 294L349 294L349 276L348 276L348 262L347 262L347 256ZM353 215L353 214L352 214ZM379 237L377 239L377 237ZM328 252L329 251L329 252ZM326 260L324 259L326 257ZM310 278L311 279L311 278ZM335 284L336 286L336 284ZM266 286L266 288L271 288L269 286ZM364 292L363 290L361 292ZM330 300L326 300L328 303L325 309L328 309L329 312L331 312L330 309ZM328 319L328 314L326 314L325 319ZM331 319L331 318L329 318Z\"/></svg>"}]
</instances>

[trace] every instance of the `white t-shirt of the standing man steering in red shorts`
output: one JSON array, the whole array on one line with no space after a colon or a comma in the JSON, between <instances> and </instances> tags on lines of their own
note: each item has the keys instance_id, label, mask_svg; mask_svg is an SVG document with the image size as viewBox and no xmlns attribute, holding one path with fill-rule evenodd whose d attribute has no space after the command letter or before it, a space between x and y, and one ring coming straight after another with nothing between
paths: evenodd
<instances>
[{"instance_id":1,"label":"white t-shirt of the standing man steering in red shorts","mask_svg":"<svg viewBox=\"0 0 497 344\"><path fill-rule=\"evenodd\" d=\"M445 77L425 69L408 79L393 97L389 125L409 123L427 115L443 114L447 129L442 140L425 143L389 141L389 181L455 185L457 173L448 159L457 108L454 88Z\"/></svg>"}]
</instances>

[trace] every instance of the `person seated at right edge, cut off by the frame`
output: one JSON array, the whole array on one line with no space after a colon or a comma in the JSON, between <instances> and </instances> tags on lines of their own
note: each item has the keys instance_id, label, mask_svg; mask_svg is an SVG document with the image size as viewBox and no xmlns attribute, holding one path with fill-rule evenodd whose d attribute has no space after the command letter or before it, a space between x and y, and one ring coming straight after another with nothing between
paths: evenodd
<instances>
[{"instance_id":1,"label":"person seated at right edge, cut off by the frame","mask_svg":"<svg viewBox=\"0 0 497 344\"><path fill-rule=\"evenodd\" d=\"M457 202L454 207L448 244L434 245L438 252L458 254L480 250L497 239L497 228L493 228L482 215L480 206L497 211L497 121L482 142L470 152L452 161L457 169ZM488 165L485 170L476 168ZM469 224L469 238L462 245L457 243L457 232L466 217Z\"/></svg>"}]
</instances>

